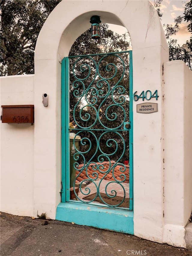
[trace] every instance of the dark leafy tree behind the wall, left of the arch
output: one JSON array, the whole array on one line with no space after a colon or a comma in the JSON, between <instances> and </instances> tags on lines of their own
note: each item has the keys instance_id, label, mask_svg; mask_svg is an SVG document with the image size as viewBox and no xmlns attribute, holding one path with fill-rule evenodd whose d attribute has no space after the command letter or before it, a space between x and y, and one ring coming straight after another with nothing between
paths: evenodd
<instances>
[{"instance_id":1,"label":"dark leafy tree behind the wall, left of the arch","mask_svg":"<svg viewBox=\"0 0 192 256\"><path fill-rule=\"evenodd\" d=\"M1 76L34 74L38 34L50 12L60 2L1 0Z\"/></svg>"}]
</instances>

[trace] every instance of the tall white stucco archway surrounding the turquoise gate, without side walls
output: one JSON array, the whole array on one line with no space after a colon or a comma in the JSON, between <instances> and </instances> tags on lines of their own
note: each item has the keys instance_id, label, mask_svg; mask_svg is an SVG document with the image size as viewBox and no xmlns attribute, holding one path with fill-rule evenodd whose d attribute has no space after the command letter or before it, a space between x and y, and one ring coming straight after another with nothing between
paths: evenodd
<instances>
[{"instance_id":1,"label":"tall white stucco archway surrounding the turquoise gate, without side walls","mask_svg":"<svg viewBox=\"0 0 192 256\"><path fill-rule=\"evenodd\" d=\"M161 85L162 65L168 61L168 47L158 14L149 1L64 0L52 11L41 29L35 49L34 101L38 112L35 112L34 211L46 211L50 218L55 218L56 206L60 202L61 59L68 55L75 39L90 27L92 15L101 16L104 23L127 28L133 48L133 91L158 90L160 95L155 116L134 114L134 233L145 238L148 233L148 239L161 242ZM43 93L49 96L47 108L42 105Z\"/></svg>"}]
</instances>

